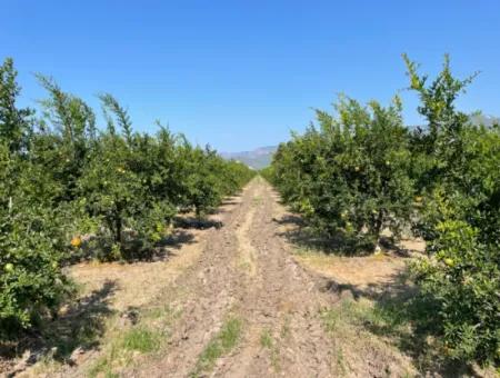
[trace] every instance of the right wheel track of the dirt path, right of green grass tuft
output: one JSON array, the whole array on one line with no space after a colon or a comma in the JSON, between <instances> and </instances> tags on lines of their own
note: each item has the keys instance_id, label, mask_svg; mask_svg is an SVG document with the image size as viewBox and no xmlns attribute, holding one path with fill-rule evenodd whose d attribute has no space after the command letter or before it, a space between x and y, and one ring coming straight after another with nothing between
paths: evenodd
<instances>
[{"instance_id":1,"label":"right wheel track of the dirt path, right of green grass tuft","mask_svg":"<svg viewBox=\"0 0 500 378\"><path fill-rule=\"evenodd\" d=\"M257 255L257 273L238 307L247 332L241 348L219 365L214 376L330 377L331 339L319 318L326 301L277 236L272 219L280 209L270 186L260 181L258 189L262 201L246 238Z\"/></svg>"}]
</instances>

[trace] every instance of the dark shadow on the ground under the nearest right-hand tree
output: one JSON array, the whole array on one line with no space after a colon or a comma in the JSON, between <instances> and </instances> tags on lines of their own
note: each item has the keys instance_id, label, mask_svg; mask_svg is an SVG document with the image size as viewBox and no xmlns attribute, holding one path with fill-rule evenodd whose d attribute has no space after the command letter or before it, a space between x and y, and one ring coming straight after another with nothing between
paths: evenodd
<instances>
[{"instance_id":1,"label":"dark shadow on the ground under the nearest right-hand tree","mask_svg":"<svg viewBox=\"0 0 500 378\"><path fill-rule=\"evenodd\" d=\"M422 376L481 377L470 365L447 356L436 321L437 304L419 294L408 270L394 273L387 284L359 286L321 277L318 287L334 296L334 306L342 307L349 301L356 306L362 299L371 300L373 308L370 310L348 312L349 321L394 345L412 359Z\"/></svg>"}]
</instances>

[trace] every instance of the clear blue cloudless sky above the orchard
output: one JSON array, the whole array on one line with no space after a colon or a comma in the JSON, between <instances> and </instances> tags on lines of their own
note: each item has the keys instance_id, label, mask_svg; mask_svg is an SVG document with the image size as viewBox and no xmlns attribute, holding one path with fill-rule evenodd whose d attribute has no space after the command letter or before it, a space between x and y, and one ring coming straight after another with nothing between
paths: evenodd
<instances>
[{"instance_id":1,"label":"clear blue cloudless sky above the orchard","mask_svg":"<svg viewBox=\"0 0 500 378\"><path fill-rule=\"evenodd\" d=\"M137 130L169 122L190 140L238 151L286 140L337 93L382 102L407 86L400 54L436 72L482 73L462 110L500 115L500 1L0 0L0 59L22 103L32 73L97 107L113 93ZM416 99L403 92L409 125Z\"/></svg>"}]
</instances>

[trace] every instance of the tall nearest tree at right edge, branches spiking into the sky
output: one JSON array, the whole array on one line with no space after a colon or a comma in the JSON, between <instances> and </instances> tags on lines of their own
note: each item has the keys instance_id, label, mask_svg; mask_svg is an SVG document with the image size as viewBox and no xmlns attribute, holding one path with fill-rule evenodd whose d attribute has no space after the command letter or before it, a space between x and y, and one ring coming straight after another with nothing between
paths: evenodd
<instances>
[{"instance_id":1,"label":"tall nearest tree at right edge, branches spiking into the sky","mask_svg":"<svg viewBox=\"0 0 500 378\"><path fill-rule=\"evenodd\" d=\"M450 356L500 361L500 128L474 126L454 109L472 78L454 79L449 59L431 84L406 58L428 128L412 136L423 197L416 230L429 260L414 267Z\"/></svg>"}]
</instances>

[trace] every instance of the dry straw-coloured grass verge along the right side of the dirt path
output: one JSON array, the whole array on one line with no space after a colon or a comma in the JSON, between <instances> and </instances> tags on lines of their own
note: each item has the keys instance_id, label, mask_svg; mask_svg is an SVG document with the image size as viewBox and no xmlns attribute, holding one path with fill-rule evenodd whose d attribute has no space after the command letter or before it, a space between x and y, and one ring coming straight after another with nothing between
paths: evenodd
<instances>
[{"instance_id":1,"label":"dry straw-coloured grass verge along the right side of the dirt path","mask_svg":"<svg viewBox=\"0 0 500 378\"><path fill-rule=\"evenodd\" d=\"M401 289L408 259L388 253L342 257L303 248L294 249L293 258L326 282L333 282L340 294L340 301L322 314L324 327L334 340L336 376L368 377L381 372L387 377L418 376L412 359L390 337L364 327L374 319L384 321L378 318L376 298Z\"/></svg>"}]
</instances>

